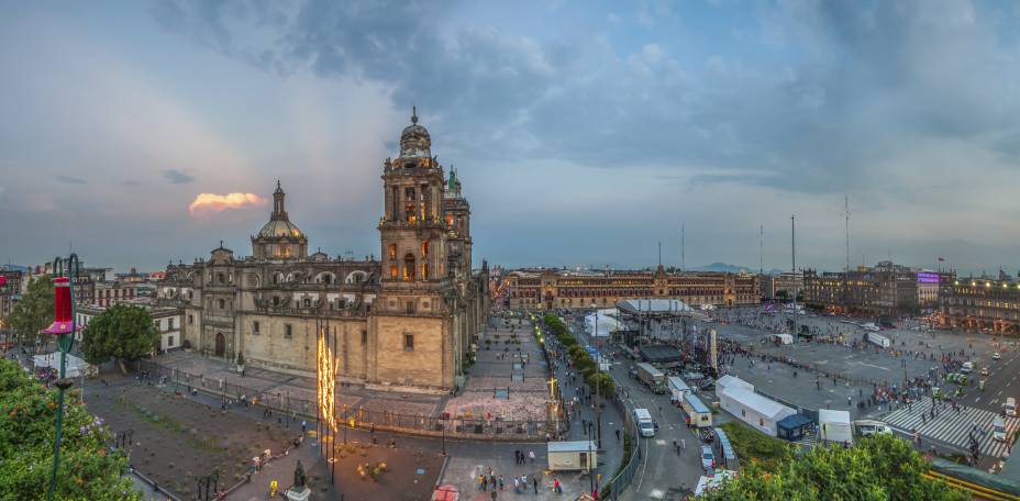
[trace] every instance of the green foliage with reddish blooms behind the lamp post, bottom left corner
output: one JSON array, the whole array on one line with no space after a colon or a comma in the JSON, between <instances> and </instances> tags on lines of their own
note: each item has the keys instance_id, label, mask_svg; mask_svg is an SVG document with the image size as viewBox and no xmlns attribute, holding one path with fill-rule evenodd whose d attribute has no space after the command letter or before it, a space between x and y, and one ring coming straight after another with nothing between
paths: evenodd
<instances>
[{"instance_id":1,"label":"green foliage with reddish blooms behind the lamp post, bottom left corner","mask_svg":"<svg viewBox=\"0 0 1020 501\"><path fill-rule=\"evenodd\" d=\"M71 391L64 407L64 434L56 499L137 500L122 477L126 458L109 450L110 431ZM16 363L0 360L0 498L41 500L49 489L56 436L56 391L29 377Z\"/></svg>"}]
</instances>

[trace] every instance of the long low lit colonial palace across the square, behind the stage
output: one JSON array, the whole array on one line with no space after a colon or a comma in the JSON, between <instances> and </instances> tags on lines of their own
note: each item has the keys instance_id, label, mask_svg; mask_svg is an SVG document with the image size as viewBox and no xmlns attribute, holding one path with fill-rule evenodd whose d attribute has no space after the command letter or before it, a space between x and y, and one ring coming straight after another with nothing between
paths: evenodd
<instances>
[{"instance_id":1,"label":"long low lit colonial palace across the square, behind the stage","mask_svg":"<svg viewBox=\"0 0 1020 501\"><path fill-rule=\"evenodd\" d=\"M757 275L727 272L517 270L507 276L511 309L612 308L624 299L678 299L733 307L761 302Z\"/></svg>"}]
</instances>

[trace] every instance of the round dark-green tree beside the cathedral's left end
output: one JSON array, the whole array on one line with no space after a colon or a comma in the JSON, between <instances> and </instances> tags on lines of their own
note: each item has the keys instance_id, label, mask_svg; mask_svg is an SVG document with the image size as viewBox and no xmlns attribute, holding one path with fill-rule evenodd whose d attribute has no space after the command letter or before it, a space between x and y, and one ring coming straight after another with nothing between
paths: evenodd
<instances>
[{"instance_id":1,"label":"round dark-green tree beside the cathedral's left end","mask_svg":"<svg viewBox=\"0 0 1020 501\"><path fill-rule=\"evenodd\" d=\"M159 333L148 310L117 304L89 322L81 333L81 353L85 361L92 365L113 358L126 374L124 361L152 353L158 341Z\"/></svg>"}]
</instances>

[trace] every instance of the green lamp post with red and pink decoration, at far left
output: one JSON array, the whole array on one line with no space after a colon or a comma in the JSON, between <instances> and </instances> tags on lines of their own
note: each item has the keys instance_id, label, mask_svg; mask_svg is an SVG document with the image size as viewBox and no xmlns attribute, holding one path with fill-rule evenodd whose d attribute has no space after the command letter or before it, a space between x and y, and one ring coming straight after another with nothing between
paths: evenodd
<instances>
[{"instance_id":1,"label":"green lamp post with red and pink decoration, at far left","mask_svg":"<svg viewBox=\"0 0 1020 501\"><path fill-rule=\"evenodd\" d=\"M65 268L65 263L67 267ZM53 443L53 471L49 475L48 499L52 501L57 488L57 469L60 464L60 437L64 426L64 392L70 388L71 381L66 379L67 352L75 343L75 333L78 332L77 312L75 310L75 289L71 281L81 267L77 254L71 254L65 260L56 257L53 260L53 324L42 331L43 334L57 336L57 347L60 349L60 371L57 387L57 420L56 439ZM66 271L66 274L65 274ZM37 339L36 339L37 341Z\"/></svg>"}]
</instances>

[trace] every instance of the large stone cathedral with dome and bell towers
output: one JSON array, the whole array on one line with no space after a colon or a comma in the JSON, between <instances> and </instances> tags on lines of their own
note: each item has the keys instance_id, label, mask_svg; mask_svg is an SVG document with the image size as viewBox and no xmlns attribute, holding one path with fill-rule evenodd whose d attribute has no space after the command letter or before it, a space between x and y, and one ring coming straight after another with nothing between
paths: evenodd
<instances>
[{"instance_id":1,"label":"large stone cathedral with dome and bell towers","mask_svg":"<svg viewBox=\"0 0 1020 501\"><path fill-rule=\"evenodd\" d=\"M337 379L366 388L450 392L463 381L490 307L488 266L472 269L470 207L418 124L382 163L379 259L308 254L279 182L252 255L221 245L174 265L160 304L181 310L184 346L302 376L315 371L317 325L335 333Z\"/></svg>"}]
</instances>

